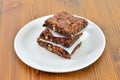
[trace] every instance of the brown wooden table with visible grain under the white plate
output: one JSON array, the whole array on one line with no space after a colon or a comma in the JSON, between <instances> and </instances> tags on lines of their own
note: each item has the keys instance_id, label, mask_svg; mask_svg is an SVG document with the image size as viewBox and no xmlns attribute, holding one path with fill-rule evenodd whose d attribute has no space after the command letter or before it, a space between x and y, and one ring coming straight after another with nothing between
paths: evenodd
<instances>
[{"instance_id":1,"label":"brown wooden table with visible grain under the white plate","mask_svg":"<svg viewBox=\"0 0 120 80\"><path fill-rule=\"evenodd\" d=\"M25 65L15 54L14 38L27 22L67 11L100 26L103 55L91 66L70 73L47 73ZM0 0L0 80L120 80L119 0Z\"/></svg>"}]
</instances>

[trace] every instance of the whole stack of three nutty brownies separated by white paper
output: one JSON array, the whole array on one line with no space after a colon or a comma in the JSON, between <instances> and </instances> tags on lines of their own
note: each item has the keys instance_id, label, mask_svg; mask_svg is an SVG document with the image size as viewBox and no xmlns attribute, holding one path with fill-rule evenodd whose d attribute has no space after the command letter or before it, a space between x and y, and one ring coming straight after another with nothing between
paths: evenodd
<instances>
[{"instance_id":1,"label":"whole stack of three nutty brownies separated by white paper","mask_svg":"<svg viewBox=\"0 0 120 80\"><path fill-rule=\"evenodd\" d=\"M46 29L40 34L37 43L47 50L70 59L81 46L79 41L87 21L67 12L60 12L48 18L43 24Z\"/></svg>"}]
</instances>

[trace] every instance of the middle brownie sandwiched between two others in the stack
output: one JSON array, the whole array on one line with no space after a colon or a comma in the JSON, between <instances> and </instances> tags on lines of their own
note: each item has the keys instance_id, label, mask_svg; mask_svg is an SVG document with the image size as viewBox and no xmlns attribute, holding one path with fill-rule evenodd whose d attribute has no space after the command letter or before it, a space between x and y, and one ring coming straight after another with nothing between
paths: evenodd
<instances>
[{"instance_id":1,"label":"middle brownie sandwiched between two others in the stack","mask_svg":"<svg viewBox=\"0 0 120 80\"><path fill-rule=\"evenodd\" d=\"M56 44L61 44L64 47L70 47L72 44L78 40L82 36L82 33L76 35L74 38L67 38L67 37L55 37L53 34L49 31L48 28L46 28L39 36L39 39L44 39L47 41L54 42Z\"/></svg>"}]
</instances>

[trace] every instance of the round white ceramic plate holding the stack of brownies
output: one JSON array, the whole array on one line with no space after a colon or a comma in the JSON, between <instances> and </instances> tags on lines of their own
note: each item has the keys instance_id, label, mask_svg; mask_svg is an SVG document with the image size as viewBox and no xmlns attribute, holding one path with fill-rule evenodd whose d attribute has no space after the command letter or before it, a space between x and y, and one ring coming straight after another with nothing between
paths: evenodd
<instances>
[{"instance_id":1,"label":"round white ceramic plate holding the stack of brownies","mask_svg":"<svg viewBox=\"0 0 120 80\"><path fill-rule=\"evenodd\" d=\"M88 20L85 31L89 34L71 59L64 59L40 47L36 40L44 30L44 21L52 15L35 19L26 24L16 35L14 49L17 56L32 68L54 73L71 72L94 63L103 53L105 37L102 30ZM79 16L78 16L79 17Z\"/></svg>"}]
</instances>

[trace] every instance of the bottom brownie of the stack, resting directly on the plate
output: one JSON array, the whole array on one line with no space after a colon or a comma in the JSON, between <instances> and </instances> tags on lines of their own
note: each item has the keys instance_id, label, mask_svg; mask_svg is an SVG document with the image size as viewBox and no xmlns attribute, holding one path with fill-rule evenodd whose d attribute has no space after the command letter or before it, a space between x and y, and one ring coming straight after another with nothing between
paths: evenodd
<instances>
[{"instance_id":1,"label":"bottom brownie of the stack, resting directly on the plate","mask_svg":"<svg viewBox=\"0 0 120 80\"><path fill-rule=\"evenodd\" d=\"M71 54L69 54L65 49L61 48L61 47L58 47L58 46L55 46L53 44L50 44L50 43L47 43L47 42L44 42L42 40L38 40L38 44L42 47L44 47L45 49L49 50L50 52L53 52L63 58L66 58L66 59L70 59L71 58L71 55L75 52L75 50L77 48L79 48L81 46L81 42L74 48L74 50L72 51Z\"/></svg>"}]
</instances>

